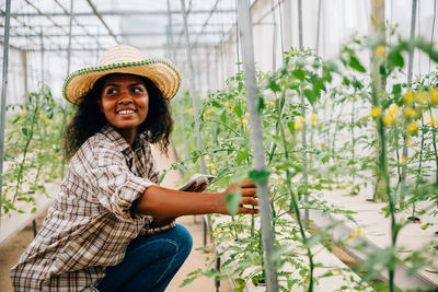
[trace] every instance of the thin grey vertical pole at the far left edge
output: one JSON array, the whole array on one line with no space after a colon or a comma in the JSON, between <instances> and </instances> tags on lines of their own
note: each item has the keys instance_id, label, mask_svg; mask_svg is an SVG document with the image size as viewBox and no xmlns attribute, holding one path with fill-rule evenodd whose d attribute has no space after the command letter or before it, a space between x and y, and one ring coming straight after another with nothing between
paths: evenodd
<instances>
[{"instance_id":1,"label":"thin grey vertical pole at the far left edge","mask_svg":"<svg viewBox=\"0 0 438 292\"><path fill-rule=\"evenodd\" d=\"M4 10L4 39L3 39L3 80L1 82L1 103L0 103L0 220L3 187L3 159L4 159L4 116L7 114L7 90L8 90L8 58L9 58L9 26L11 20L11 0L7 0Z\"/></svg>"}]
</instances>

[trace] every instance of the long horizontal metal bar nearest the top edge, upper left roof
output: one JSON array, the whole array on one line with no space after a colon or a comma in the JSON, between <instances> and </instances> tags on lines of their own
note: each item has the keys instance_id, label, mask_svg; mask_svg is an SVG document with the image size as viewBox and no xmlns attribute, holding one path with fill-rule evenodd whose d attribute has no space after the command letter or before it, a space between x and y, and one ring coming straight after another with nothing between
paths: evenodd
<instances>
[{"instance_id":1,"label":"long horizontal metal bar nearest the top edge, upper left roof","mask_svg":"<svg viewBox=\"0 0 438 292\"><path fill-rule=\"evenodd\" d=\"M217 13L235 13L235 10L233 9L222 9L222 10L217 10ZM117 11L117 10L112 10L112 11L100 11L99 12L101 15L105 16L126 16L126 15L141 15L141 16L147 16L147 15L168 15L168 11L165 10L157 10L157 11L138 11L138 10L126 10L126 11ZM172 14L181 14L182 12L180 10L174 10L171 11L170 13ZM207 14L210 13L210 10L191 10L191 14ZM1 11L0 13L1 16L4 16L4 12ZM64 12L50 12L50 13L45 13L44 15L41 15L38 13L11 13L11 16L14 17L34 17L34 16L69 16L66 15ZM93 12L74 12L74 16L95 16Z\"/></svg>"}]
</instances>

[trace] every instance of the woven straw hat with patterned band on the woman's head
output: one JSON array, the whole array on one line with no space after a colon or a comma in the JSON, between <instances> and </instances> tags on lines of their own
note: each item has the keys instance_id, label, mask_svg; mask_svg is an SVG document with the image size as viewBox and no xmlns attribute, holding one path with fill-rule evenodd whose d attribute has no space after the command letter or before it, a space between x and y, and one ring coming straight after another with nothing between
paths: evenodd
<instances>
[{"instance_id":1,"label":"woven straw hat with patterned band on the woman's head","mask_svg":"<svg viewBox=\"0 0 438 292\"><path fill-rule=\"evenodd\" d=\"M110 73L128 73L150 79L166 100L172 98L181 85L181 74L176 67L164 58L142 59L138 49L117 45L105 50L97 67L72 72L64 81L62 95L72 104L90 91L94 83Z\"/></svg>"}]
</instances>

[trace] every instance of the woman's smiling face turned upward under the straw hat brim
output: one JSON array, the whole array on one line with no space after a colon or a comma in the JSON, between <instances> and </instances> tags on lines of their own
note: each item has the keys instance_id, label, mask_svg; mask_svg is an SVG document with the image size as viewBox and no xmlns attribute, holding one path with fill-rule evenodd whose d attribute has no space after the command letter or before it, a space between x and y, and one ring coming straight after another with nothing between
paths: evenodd
<instances>
[{"instance_id":1,"label":"woman's smiling face turned upward under the straw hat brim","mask_svg":"<svg viewBox=\"0 0 438 292\"><path fill-rule=\"evenodd\" d=\"M138 127L148 116L149 94L146 84L136 75L110 75L103 85L100 106L106 120L128 142L134 142Z\"/></svg>"}]
</instances>

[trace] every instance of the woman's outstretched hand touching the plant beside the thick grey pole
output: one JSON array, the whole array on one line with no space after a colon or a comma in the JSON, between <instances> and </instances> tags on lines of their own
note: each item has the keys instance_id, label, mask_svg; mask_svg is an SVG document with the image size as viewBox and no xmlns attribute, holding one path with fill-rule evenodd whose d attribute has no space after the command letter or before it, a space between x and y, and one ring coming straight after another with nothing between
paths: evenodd
<instances>
[{"instance_id":1,"label":"woman's outstretched hand touching the plant beside the thick grey pole","mask_svg":"<svg viewBox=\"0 0 438 292\"><path fill-rule=\"evenodd\" d=\"M237 191L242 195L242 198L239 202L238 214L258 214L258 209L254 209L254 206L258 206L257 188L250 180L233 183L224 192L221 192L223 202L221 206L222 209L218 213L230 214L226 203L227 196L228 194Z\"/></svg>"}]
</instances>

